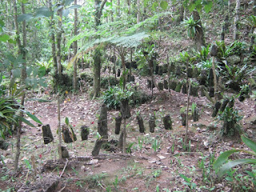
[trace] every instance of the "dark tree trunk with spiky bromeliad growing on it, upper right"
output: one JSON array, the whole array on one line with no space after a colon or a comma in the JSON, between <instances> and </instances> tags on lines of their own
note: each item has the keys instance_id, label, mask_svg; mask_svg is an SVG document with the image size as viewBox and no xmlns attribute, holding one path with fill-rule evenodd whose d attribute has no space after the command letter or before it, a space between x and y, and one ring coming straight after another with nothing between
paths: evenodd
<instances>
[{"instance_id":1,"label":"dark tree trunk with spiky bromeliad growing on it, upper right","mask_svg":"<svg viewBox=\"0 0 256 192\"><path fill-rule=\"evenodd\" d=\"M200 15L198 14L197 10L193 11L193 18L195 21L199 21L200 20ZM204 37L204 33L202 30L202 22L198 22L198 26L195 27L196 28L196 34L194 37L194 42L195 42L195 46L197 50L201 50L201 46L205 45L205 37Z\"/></svg>"}]
</instances>

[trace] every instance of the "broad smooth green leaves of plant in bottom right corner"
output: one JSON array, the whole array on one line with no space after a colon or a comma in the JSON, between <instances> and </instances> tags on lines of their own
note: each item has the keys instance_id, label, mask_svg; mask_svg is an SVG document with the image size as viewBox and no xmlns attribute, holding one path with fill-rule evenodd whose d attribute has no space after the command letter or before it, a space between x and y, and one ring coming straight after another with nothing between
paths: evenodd
<instances>
[{"instance_id":1,"label":"broad smooth green leaves of plant in bottom right corner","mask_svg":"<svg viewBox=\"0 0 256 192\"><path fill-rule=\"evenodd\" d=\"M253 163L256 165L256 142L251 140L250 138L246 138L246 136L241 136L242 141L250 148L250 150L242 150L242 149L236 149L236 150L227 150L224 153L222 153L216 162L214 162L214 170L218 174L219 177L222 177L224 174L228 172L231 168L234 166L242 165L242 164L248 164ZM251 151L252 150L252 151ZM246 154L253 155L254 158L240 158L233 161L227 162L228 158L231 154L242 152Z\"/></svg>"}]
</instances>

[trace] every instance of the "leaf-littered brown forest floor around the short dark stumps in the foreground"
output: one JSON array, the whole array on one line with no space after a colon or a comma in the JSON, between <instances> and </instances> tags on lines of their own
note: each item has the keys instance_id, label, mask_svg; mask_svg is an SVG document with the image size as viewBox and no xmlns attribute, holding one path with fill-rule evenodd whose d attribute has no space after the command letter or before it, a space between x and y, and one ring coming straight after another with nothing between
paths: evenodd
<instances>
[{"instance_id":1,"label":"leaf-littered brown forest floor around the short dark stumps in the foreground","mask_svg":"<svg viewBox=\"0 0 256 192\"><path fill-rule=\"evenodd\" d=\"M159 78L159 77L157 77ZM138 78L140 88L146 89L146 78ZM1 190L32 189L37 182L43 186L42 179L48 182L57 179L56 190L49 191L241 191L242 185L254 189L252 182L240 180L229 181L220 179L212 170L212 162L225 150L244 148L246 146L240 138L221 137L222 123L211 117L212 108L206 97L191 97L190 103L196 102L200 111L198 122L189 120L190 150L183 150L186 127L182 126L180 110L186 106L187 95L168 90L159 93L154 88L154 99L131 109L132 117L127 121L127 146L131 146L129 154L122 154L117 147L114 152L102 149L98 157L92 157L97 134L98 114L101 100L91 100L86 93L65 94L61 103L62 123L65 118L70 124L78 140L66 144L70 158L68 161L58 161L58 107L56 95L45 91L42 95L30 95L31 98L43 98L50 102L27 101L26 110L35 114L44 125L50 124L54 134L54 142L43 144L42 126L32 128L24 126L22 133L22 150L20 157L21 170L13 174L15 137L9 138L8 150L1 150L3 157L1 168ZM246 98L245 102L235 101L236 109L243 115L240 122L242 130L255 138L255 126L251 118L256 116L255 101ZM140 134L136 113L140 111L146 133ZM155 112L156 129L152 134L149 131L149 116ZM118 110L108 111L109 141L118 140L114 134L115 121ZM165 130L162 117L170 114L173 129ZM82 141L80 127L90 127L89 139ZM33 176L31 156L36 160L37 174ZM246 154L234 155L234 158L249 158ZM50 161L52 160L52 161ZM54 166L57 164L57 166ZM66 165L66 166L65 166ZM50 169L48 169L50 167ZM245 168L245 167L244 167ZM251 169L251 166L246 166ZM61 178L59 179L61 175ZM184 180L186 176L186 180ZM183 178L182 178L183 177ZM46 179L47 180L47 179ZM47 181L46 181L47 182ZM39 186L40 186L39 185ZM239 186L240 185L240 186ZM240 187L240 188L239 188ZM19 190L22 191L22 190ZM41 190L37 190L41 191ZM246 191L246 190L245 190ZM247 190L255 191L255 190Z\"/></svg>"}]
</instances>

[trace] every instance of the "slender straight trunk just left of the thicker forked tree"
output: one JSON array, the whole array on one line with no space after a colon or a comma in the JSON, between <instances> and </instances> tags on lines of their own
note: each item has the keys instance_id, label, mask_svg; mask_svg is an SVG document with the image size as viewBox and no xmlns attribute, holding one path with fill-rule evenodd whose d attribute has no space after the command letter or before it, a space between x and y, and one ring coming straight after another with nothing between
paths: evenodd
<instances>
[{"instance_id":1,"label":"slender straight trunk just left of the thicker forked tree","mask_svg":"<svg viewBox=\"0 0 256 192\"><path fill-rule=\"evenodd\" d=\"M74 5L77 5L78 1L74 0ZM74 9L74 36L78 34L78 9ZM74 55L78 53L78 41L74 41ZM74 74L73 74L73 89L77 90L77 59L75 59L74 64Z\"/></svg>"}]
</instances>

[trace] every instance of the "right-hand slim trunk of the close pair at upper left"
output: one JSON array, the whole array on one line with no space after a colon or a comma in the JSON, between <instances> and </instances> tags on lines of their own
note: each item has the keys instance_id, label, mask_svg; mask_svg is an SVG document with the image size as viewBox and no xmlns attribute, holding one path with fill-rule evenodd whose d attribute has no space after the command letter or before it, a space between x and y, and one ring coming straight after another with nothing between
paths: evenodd
<instances>
[{"instance_id":1,"label":"right-hand slim trunk of the close pair at upper left","mask_svg":"<svg viewBox=\"0 0 256 192\"><path fill-rule=\"evenodd\" d=\"M63 6L63 5L62 5ZM58 10L58 32L57 32L57 66L58 66L58 79L62 78L62 10Z\"/></svg>"}]
</instances>

